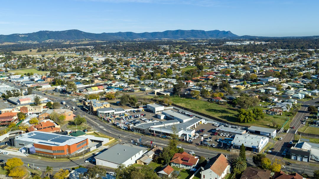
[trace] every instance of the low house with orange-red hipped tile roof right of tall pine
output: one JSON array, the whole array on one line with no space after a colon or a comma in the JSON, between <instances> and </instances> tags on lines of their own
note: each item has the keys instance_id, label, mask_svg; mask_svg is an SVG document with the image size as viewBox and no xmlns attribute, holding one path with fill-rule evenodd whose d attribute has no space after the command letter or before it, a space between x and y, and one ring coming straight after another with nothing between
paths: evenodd
<instances>
[{"instance_id":1,"label":"low house with orange-red hipped tile roof right of tall pine","mask_svg":"<svg viewBox=\"0 0 319 179\"><path fill-rule=\"evenodd\" d=\"M198 158L191 154L183 153L175 153L172 160L170 161L171 166L178 168L193 168L198 163Z\"/></svg>"}]
</instances>

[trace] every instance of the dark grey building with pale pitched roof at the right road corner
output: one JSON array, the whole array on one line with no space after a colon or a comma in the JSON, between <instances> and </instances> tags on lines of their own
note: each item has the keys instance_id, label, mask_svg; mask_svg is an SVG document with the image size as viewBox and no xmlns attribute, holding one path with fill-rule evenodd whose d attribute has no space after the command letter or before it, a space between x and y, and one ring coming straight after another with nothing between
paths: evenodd
<instances>
[{"instance_id":1,"label":"dark grey building with pale pitched roof at the right road corner","mask_svg":"<svg viewBox=\"0 0 319 179\"><path fill-rule=\"evenodd\" d=\"M290 148L290 158L297 161L310 161L311 145L307 142L298 141L298 143Z\"/></svg>"}]
</instances>

